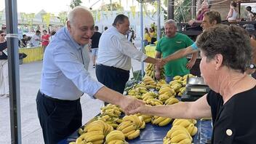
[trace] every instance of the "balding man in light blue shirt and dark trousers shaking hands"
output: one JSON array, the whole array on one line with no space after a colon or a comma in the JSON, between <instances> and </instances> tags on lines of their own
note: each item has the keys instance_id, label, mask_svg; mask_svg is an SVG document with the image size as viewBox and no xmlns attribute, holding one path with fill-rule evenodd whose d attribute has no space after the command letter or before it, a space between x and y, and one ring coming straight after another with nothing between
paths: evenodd
<instances>
[{"instance_id":1,"label":"balding man in light blue shirt and dark trousers shaking hands","mask_svg":"<svg viewBox=\"0 0 256 144\"><path fill-rule=\"evenodd\" d=\"M67 27L56 33L44 53L41 87L36 97L44 143L58 143L81 127L80 97L87 93L125 112L143 105L108 89L89 75L87 44L94 33L92 14L76 7L68 14Z\"/></svg>"}]
</instances>

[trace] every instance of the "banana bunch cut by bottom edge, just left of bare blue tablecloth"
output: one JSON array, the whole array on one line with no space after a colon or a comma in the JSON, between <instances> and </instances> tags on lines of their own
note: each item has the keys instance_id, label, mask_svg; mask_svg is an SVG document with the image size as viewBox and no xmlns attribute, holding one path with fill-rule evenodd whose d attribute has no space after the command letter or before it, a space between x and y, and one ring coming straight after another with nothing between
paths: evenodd
<instances>
[{"instance_id":1,"label":"banana bunch cut by bottom edge, just left of bare blue tablecloth","mask_svg":"<svg viewBox=\"0 0 256 144\"><path fill-rule=\"evenodd\" d=\"M106 144L126 144L123 132L113 130L105 137Z\"/></svg>"}]
</instances>

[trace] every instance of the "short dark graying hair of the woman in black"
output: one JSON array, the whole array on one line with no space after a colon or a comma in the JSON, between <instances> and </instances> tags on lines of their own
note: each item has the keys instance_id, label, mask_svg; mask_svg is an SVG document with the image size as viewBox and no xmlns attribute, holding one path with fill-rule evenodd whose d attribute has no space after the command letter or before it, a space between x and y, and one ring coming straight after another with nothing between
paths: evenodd
<instances>
[{"instance_id":1,"label":"short dark graying hair of the woman in black","mask_svg":"<svg viewBox=\"0 0 256 144\"><path fill-rule=\"evenodd\" d=\"M196 45L204 52L207 61L217 54L223 55L223 65L241 73L251 62L249 33L234 25L218 24L205 30L197 37Z\"/></svg>"}]
</instances>

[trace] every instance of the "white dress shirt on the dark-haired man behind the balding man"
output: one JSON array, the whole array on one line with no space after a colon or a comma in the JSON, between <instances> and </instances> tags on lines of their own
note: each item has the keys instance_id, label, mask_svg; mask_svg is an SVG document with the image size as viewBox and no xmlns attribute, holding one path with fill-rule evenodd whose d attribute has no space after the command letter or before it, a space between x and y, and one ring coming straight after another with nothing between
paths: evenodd
<instances>
[{"instance_id":1,"label":"white dress shirt on the dark-haired man behind the balding man","mask_svg":"<svg viewBox=\"0 0 256 144\"><path fill-rule=\"evenodd\" d=\"M115 27L108 28L100 37L96 63L129 71L132 67L131 57L143 62L148 56L136 49L126 35L119 33Z\"/></svg>"}]
</instances>

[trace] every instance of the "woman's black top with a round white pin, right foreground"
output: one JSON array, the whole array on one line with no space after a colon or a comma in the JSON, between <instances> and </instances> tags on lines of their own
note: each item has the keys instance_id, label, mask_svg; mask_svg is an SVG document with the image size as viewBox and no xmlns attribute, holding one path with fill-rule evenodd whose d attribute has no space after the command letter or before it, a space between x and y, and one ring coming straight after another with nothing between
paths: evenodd
<instances>
[{"instance_id":1,"label":"woman's black top with a round white pin, right foreground","mask_svg":"<svg viewBox=\"0 0 256 144\"><path fill-rule=\"evenodd\" d=\"M212 111L212 143L256 143L256 86L233 95L223 105L223 97L210 91L207 102Z\"/></svg>"}]
</instances>

